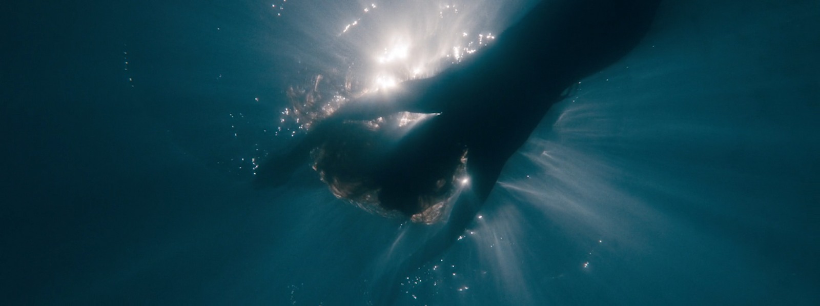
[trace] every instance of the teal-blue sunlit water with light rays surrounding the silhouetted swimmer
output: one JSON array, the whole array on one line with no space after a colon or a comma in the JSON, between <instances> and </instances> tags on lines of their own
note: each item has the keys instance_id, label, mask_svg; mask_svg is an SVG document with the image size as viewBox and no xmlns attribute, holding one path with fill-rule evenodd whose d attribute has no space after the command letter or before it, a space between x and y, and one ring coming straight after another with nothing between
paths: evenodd
<instances>
[{"instance_id":1,"label":"teal-blue sunlit water with light rays surrounding the silhouetted swimmer","mask_svg":"<svg viewBox=\"0 0 820 306\"><path fill-rule=\"evenodd\" d=\"M278 130L287 89L435 74L536 2L12 5L2 304L372 304L429 227L335 199L307 165L250 188L298 138ZM395 303L820 303L818 12L663 1Z\"/></svg>"}]
</instances>

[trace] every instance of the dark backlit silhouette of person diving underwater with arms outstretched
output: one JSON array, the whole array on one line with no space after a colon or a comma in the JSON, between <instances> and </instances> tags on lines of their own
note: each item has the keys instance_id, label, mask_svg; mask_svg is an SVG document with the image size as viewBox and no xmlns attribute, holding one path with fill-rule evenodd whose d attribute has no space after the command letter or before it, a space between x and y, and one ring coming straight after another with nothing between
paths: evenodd
<instances>
[{"instance_id":1,"label":"dark backlit silhouette of person diving underwater with arms outstretched","mask_svg":"<svg viewBox=\"0 0 820 306\"><path fill-rule=\"evenodd\" d=\"M380 208L409 217L430 207L429 201L421 199L438 192L443 177L445 188L460 185L455 182L458 165L467 152L469 183L460 191L447 222L424 246L397 263L394 271L385 272L385 277L420 267L449 248L472 222L504 163L526 142L549 108L564 98L565 91L635 47L649 29L658 2L541 2L499 34L490 48L440 75L408 81L389 94L369 94L345 104L313 126L296 148L262 164L255 185L284 184L307 162L311 151L315 153L314 149L334 139L350 139L345 134L356 134L356 129L345 126L353 121L371 121L397 112L437 113L406 132L395 133L400 137L365 139L355 149L336 146L330 153L340 157L376 150L374 144L392 141L380 147L374 158L358 158L362 164L347 167L358 169L353 185L365 189L355 193L367 195L372 189ZM335 181L325 179L333 189ZM393 294L385 299L382 304L389 304Z\"/></svg>"}]
</instances>

